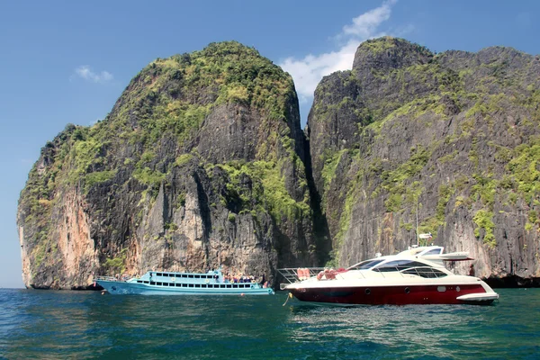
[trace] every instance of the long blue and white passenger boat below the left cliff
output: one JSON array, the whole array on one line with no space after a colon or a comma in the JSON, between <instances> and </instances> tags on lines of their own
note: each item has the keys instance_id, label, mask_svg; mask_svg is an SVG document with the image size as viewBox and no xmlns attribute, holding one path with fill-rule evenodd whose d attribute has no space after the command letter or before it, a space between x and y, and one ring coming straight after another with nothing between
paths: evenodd
<instances>
[{"instance_id":1,"label":"long blue and white passenger boat below the left cliff","mask_svg":"<svg viewBox=\"0 0 540 360\"><path fill-rule=\"evenodd\" d=\"M274 290L257 283L233 283L224 279L221 270L206 274L149 271L140 277L121 281L110 276L94 279L112 294L142 295L273 295Z\"/></svg>"}]
</instances>

